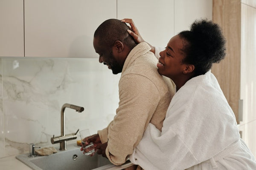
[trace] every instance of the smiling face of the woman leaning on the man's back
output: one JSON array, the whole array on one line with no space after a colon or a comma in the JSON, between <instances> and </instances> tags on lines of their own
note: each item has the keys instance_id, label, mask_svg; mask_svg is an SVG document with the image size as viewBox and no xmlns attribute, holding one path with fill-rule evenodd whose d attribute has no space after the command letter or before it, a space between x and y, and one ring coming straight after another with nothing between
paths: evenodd
<instances>
[{"instance_id":1,"label":"smiling face of the woman leaning on the man's back","mask_svg":"<svg viewBox=\"0 0 256 170\"><path fill-rule=\"evenodd\" d=\"M171 78L175 81L183 72L186 67L184 64L184 52L183 47L186 41L180 38L179 35L175 35L169 40L166 49L160 52L159 62L157 63L158 72L160 75Z\"/></svg>"}]
</instances>

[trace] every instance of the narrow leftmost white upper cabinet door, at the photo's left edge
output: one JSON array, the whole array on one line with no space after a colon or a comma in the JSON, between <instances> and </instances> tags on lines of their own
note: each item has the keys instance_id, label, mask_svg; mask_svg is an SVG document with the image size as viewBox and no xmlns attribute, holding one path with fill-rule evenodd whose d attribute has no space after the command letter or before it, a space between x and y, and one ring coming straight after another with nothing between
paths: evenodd
<instances>
[{"instance_id":1,"label":"narrow leftmost white upper cabinet door, at the photo's left edge","mask_svg":"<svg viewBox=\"0 0 256 170\"><path fill-rule=\"evenodd\" d=\"M0 0L0 57L23 57L23 0Z\"/></svg>"}]
</instances>

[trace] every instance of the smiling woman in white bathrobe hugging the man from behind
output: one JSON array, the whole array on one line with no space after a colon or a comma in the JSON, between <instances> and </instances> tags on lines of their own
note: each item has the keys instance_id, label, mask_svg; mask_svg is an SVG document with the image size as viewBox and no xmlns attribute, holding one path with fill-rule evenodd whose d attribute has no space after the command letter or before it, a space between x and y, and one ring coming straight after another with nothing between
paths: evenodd
<instances>
[{"instance_id":1,"label":"smiling woman in white bathrobe hugging the man from behind","mask_svg":"<svg viewBox=\"0 0 256 170\"><path fill-rule=\"evenodd\" d=\"M128 31L144 41L131 19ZM154 47L152 47L154 52ZM155 52L157 53L157 52ZM240 138L235 115L211 73L225 56L220 27L195 21L189 31L171 38L160 52L160 75L171 78L172 98L162 132L149 124L130 160L145 170L256 170L256 161Z\"/></svg>"}]
</instances>

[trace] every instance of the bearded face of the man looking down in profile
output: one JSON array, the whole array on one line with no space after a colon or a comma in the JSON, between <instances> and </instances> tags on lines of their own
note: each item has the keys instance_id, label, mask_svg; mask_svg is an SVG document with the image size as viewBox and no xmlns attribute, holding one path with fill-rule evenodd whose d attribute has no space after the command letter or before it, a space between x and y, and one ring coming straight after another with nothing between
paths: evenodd
<instances>
[{"instance_id":1,"label":"bearded face of the man looking down in profile","mask_svg":"<svg viewBox=\"0 0 256 170\"><path fill-rule=\"evenodd\" d=\"M122 65L119 64L119 58L113 55L112 48L106 45L101 45L100 39L93 38L93 47L95 52L99 54L99 62L112 69L113 74L122 72Z\"/></svg>"}]
</instances>

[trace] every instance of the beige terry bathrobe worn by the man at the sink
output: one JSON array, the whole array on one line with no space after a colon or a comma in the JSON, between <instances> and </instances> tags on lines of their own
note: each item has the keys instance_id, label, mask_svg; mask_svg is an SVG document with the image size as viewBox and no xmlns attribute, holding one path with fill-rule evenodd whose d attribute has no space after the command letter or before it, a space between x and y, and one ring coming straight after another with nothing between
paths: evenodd
<instances>
[{"instance_id":1,"label":"beige terry bathrobe worn by the man at the sink","mask_svg":"<svg viewBox=\"0 0 256 170\"><path fill-rule=\"evenodd\" d=\"M106 155L115 165L125 163L148 123L161 130L175 85L157 72L157 59L147 43L140 43L127 56L119 80L119 107L107 128L99 130Z\"/></svg>"}]
</instances>

